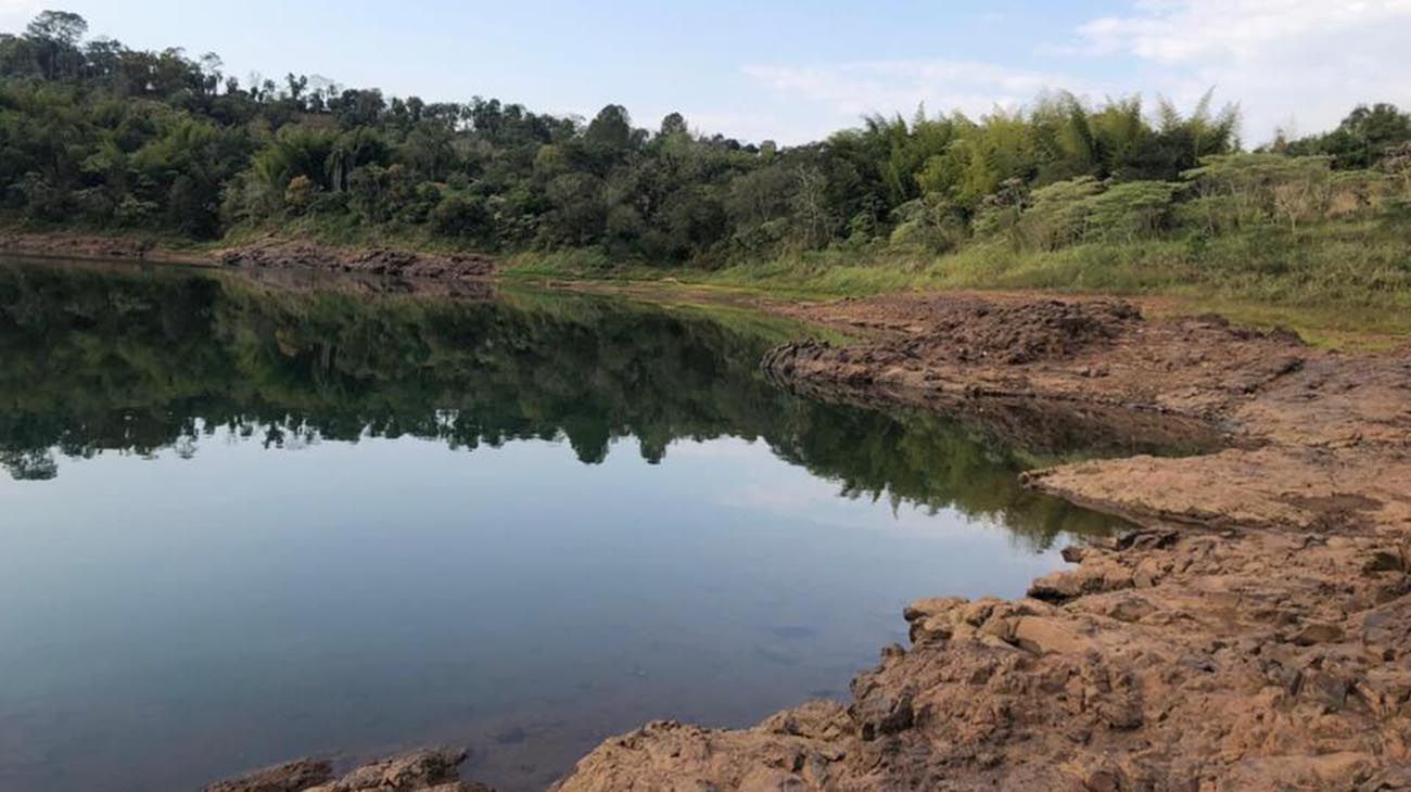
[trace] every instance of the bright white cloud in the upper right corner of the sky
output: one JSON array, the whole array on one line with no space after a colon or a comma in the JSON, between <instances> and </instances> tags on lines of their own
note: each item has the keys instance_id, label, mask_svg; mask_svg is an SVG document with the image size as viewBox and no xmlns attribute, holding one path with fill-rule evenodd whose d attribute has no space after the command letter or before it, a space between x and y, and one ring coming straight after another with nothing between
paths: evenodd
<instances>
[{"instance_id":1,"label":"bright white cloud in the upper right corner of the sky","mask_svg":"<svg viewBox=\"0 0 1411 792\"><path fill-rule=\"evenodd\" d=\"M1149 87L1239 100L1250 142L1329 128L1359 101L1411 106L1411 0L1146 0L1077 31L1075 52L1143 62Z\"/></svg>"}]
</instances>

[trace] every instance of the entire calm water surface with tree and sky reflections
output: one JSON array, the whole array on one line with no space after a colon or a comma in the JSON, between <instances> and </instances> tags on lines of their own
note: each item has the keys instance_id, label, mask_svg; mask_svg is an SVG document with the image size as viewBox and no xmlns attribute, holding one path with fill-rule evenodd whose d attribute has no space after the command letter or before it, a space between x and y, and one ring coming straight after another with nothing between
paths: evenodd
<instances>
[{"instance_id":1,"label":"entire calm water surface with tree and sky reflections","mask_svg":"<svg viewBox=\"0 0 1411 792\"><path fill-rule=\"evenodd\" d=\"M1105 528L1016 488L1033 450L779 392L789 331L0 264L0 789L429 743L542 788L841 696L907 602Z\"/></svg>"}]
</instances>

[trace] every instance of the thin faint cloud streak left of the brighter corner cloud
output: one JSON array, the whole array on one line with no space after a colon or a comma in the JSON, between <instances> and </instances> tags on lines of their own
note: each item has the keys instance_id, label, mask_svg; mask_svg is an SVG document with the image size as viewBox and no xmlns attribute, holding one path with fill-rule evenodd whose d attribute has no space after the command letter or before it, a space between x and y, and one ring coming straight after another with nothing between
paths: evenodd
<instances>
[{"instance_id":1,"label":"thin faint cloud streak left of the brighter corner cloud","mask_svg":"<svg viewBox=\"0 0 1411 792\"><path fill-rule=\"evenodd\" d=\"M821 103L835 113L933 111L971 114L1015 107L1046 89L1081 89L1062 75L974 61L866 61L834 66L745 66L745 75L779 92Z\"/></svg>"}]
</instances>

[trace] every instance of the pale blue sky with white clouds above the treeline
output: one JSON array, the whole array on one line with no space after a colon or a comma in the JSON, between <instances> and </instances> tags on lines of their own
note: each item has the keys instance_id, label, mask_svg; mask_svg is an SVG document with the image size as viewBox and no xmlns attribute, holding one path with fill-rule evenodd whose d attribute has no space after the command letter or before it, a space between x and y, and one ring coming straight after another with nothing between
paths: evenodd
<instances>
[{"instance_id":1,"label":"pale blue sky with white clouds above the treeline","mask_svg":"<svg viewBox=\"0 0 1411 792\"><path fill-rule=\"evenodd\" d=\"M0 0L135 48L216 52L226 72L319 75L429 101L471 96L655 128L807 142L869 113L1012 109L1044 90L1237 101L1246 145L1352 106L1411 107L1411 0Z\"/></svg>"}]
</instances>

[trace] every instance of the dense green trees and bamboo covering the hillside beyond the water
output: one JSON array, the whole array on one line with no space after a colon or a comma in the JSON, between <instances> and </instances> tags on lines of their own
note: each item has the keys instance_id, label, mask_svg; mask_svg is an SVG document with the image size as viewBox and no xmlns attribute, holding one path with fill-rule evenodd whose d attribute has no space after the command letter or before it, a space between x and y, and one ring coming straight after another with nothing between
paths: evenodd
<instances>
[{"instance_id":1,"label":"dense green trees and bamboo covering the hillside beyond the water","mask_svg":"<svg viewBox=\"0 0 1411 792\"><path fill-rule=\"evenodd\" d=\"M1235 107L1057 93L1019 111L866 118L779 147L494 99L426 103L214 55L85 39L40 14L0 35L0 211L28 224L219 238L402 235L487 251L594 249L721 265L825 248L940 254L1405 216L1411 116L1243 152Z\"/></svg>"}]
</instances>

